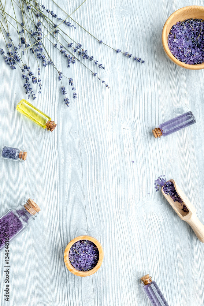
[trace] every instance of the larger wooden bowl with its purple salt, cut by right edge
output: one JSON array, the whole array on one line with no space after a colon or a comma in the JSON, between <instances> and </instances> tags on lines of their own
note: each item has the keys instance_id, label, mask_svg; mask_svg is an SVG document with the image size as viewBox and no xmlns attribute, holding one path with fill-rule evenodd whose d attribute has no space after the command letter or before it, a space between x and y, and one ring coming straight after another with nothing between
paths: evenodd
<instances>
[{"instance_id":1,"label":"larger wooden bowl with its purple salt, cut by right edge","mask_svg":"<svg viewBox=\"0 0 204 306\"><path fill-rule=\"evenodd\" d=\"M167 56L185 69L204 68L204 7L185 6L175 11L162 30Z\"/></svg>"}]
</instances>

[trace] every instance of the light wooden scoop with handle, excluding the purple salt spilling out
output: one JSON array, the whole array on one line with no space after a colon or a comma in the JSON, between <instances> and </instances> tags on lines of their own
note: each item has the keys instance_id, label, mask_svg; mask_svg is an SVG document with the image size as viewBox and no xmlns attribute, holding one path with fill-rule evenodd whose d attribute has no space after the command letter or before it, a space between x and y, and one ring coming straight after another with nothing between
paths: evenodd
<instances>
[{"instance_id":1,"label":"light wooden scoop with handle, excluding the purple salt spilling out","mask_svg":"<svg viewBox=\"0 0 204 306\"><path fill-rule=\"evenodd\" d=\"M204 243L204 225L200 222L197 217L195 207L191 204L191 202L187 199L184 192L179 188L174 180L169 180L173 183L176 192L180 196L181 200L183 201L184 205L187 207L187 212L182 211L183 204L173 201L171 196L165 194L163 191L163 187L161 188L161 192L165 196L166 200L170 203L173 209L176 211L177 215L181 218L181 220L186 221L193 229L194 233L198 237L198 239Z\"/></svg>"}]
</instances>

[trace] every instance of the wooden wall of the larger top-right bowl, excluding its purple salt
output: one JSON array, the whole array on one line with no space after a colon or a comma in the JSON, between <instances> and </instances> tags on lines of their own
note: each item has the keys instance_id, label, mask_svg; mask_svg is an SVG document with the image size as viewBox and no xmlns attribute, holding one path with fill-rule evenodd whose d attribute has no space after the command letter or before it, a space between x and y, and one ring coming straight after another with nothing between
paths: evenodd
<instances>
[{"instance_id":1,"label":"wooden wall of the larger top-right bowl, excluding its purple salt","mask_svg":"<svg viewBox=\"0 0 204 306\"><path fill-rule=\"evenodd\" d=\"M176 24L176 22L178 21L184 21L189 18L198 18L198 19L204 20L204 6L197 6L197 5L185 6L185 7L182 7L181 9L178 9L173 14L171 14L171 16L169 16L169 18L165 22L165 25L162 30L162 35L161 35L162 45L163 45L163 48L167 56L176 65L186 68L186 69L199 70L199 69L204 68L204 63L198 64L198 65L189 65L189 64L182 63L173 56L168 46L168 35L169 35L169 32L172 26Z\"/></svg>"}]
</instances>

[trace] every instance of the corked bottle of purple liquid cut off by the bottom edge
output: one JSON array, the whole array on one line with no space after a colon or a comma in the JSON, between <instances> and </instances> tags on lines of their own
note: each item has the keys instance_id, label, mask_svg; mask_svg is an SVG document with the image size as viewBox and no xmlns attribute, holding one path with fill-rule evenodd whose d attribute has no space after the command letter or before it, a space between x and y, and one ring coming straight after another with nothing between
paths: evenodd
<instances>
[{"instance_id":1,"label":"corked bottle of purple liquid cut off by the bottom edge","mask_svg":"<svg viewBox=\"0 0 204 306\"><path fill-rule=\"evenodd\" d=\"M154 306L169 306L155 281L149 274L140 278L144 291Z\"/></svg>"}]
</instances>

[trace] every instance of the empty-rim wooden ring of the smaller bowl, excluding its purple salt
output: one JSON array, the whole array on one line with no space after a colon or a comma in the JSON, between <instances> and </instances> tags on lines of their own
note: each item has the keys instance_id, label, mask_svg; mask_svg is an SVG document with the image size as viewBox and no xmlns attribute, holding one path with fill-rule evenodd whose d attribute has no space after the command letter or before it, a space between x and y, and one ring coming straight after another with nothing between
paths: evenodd
<instances>
[{"instance_id":1,"label":"empty-rim wooden ring of the smaller bowl, excluding its purple salt","mask_svg":"<svg viewBox=\"0 0 204 306\"><path fill-rule=\"evenodd\" d=\"M80 240L89 240L91 242L93 242L97 248L98 248L98 252L99 252L99 258L98 258L98 263L96 264L96 266L91 269L90 271L79 271L76 270L70 263L69 261L69 251L70 248L72 247L72 245ZM102 245L100 244L100 242L95 239L94 237L91 236L78 236L74 239L72 239L72 241L69 242L69 244L67 244L66 248L65 248L65 252L64 252L64 261L65 261L65 265L67 267L67 269L72 272L73 274L77 275L77 276L89 276L94 274L96 271L98 271L98 269L101 267L102 262L103 262L103 248Z\"/></svg>"}]
</instances>

